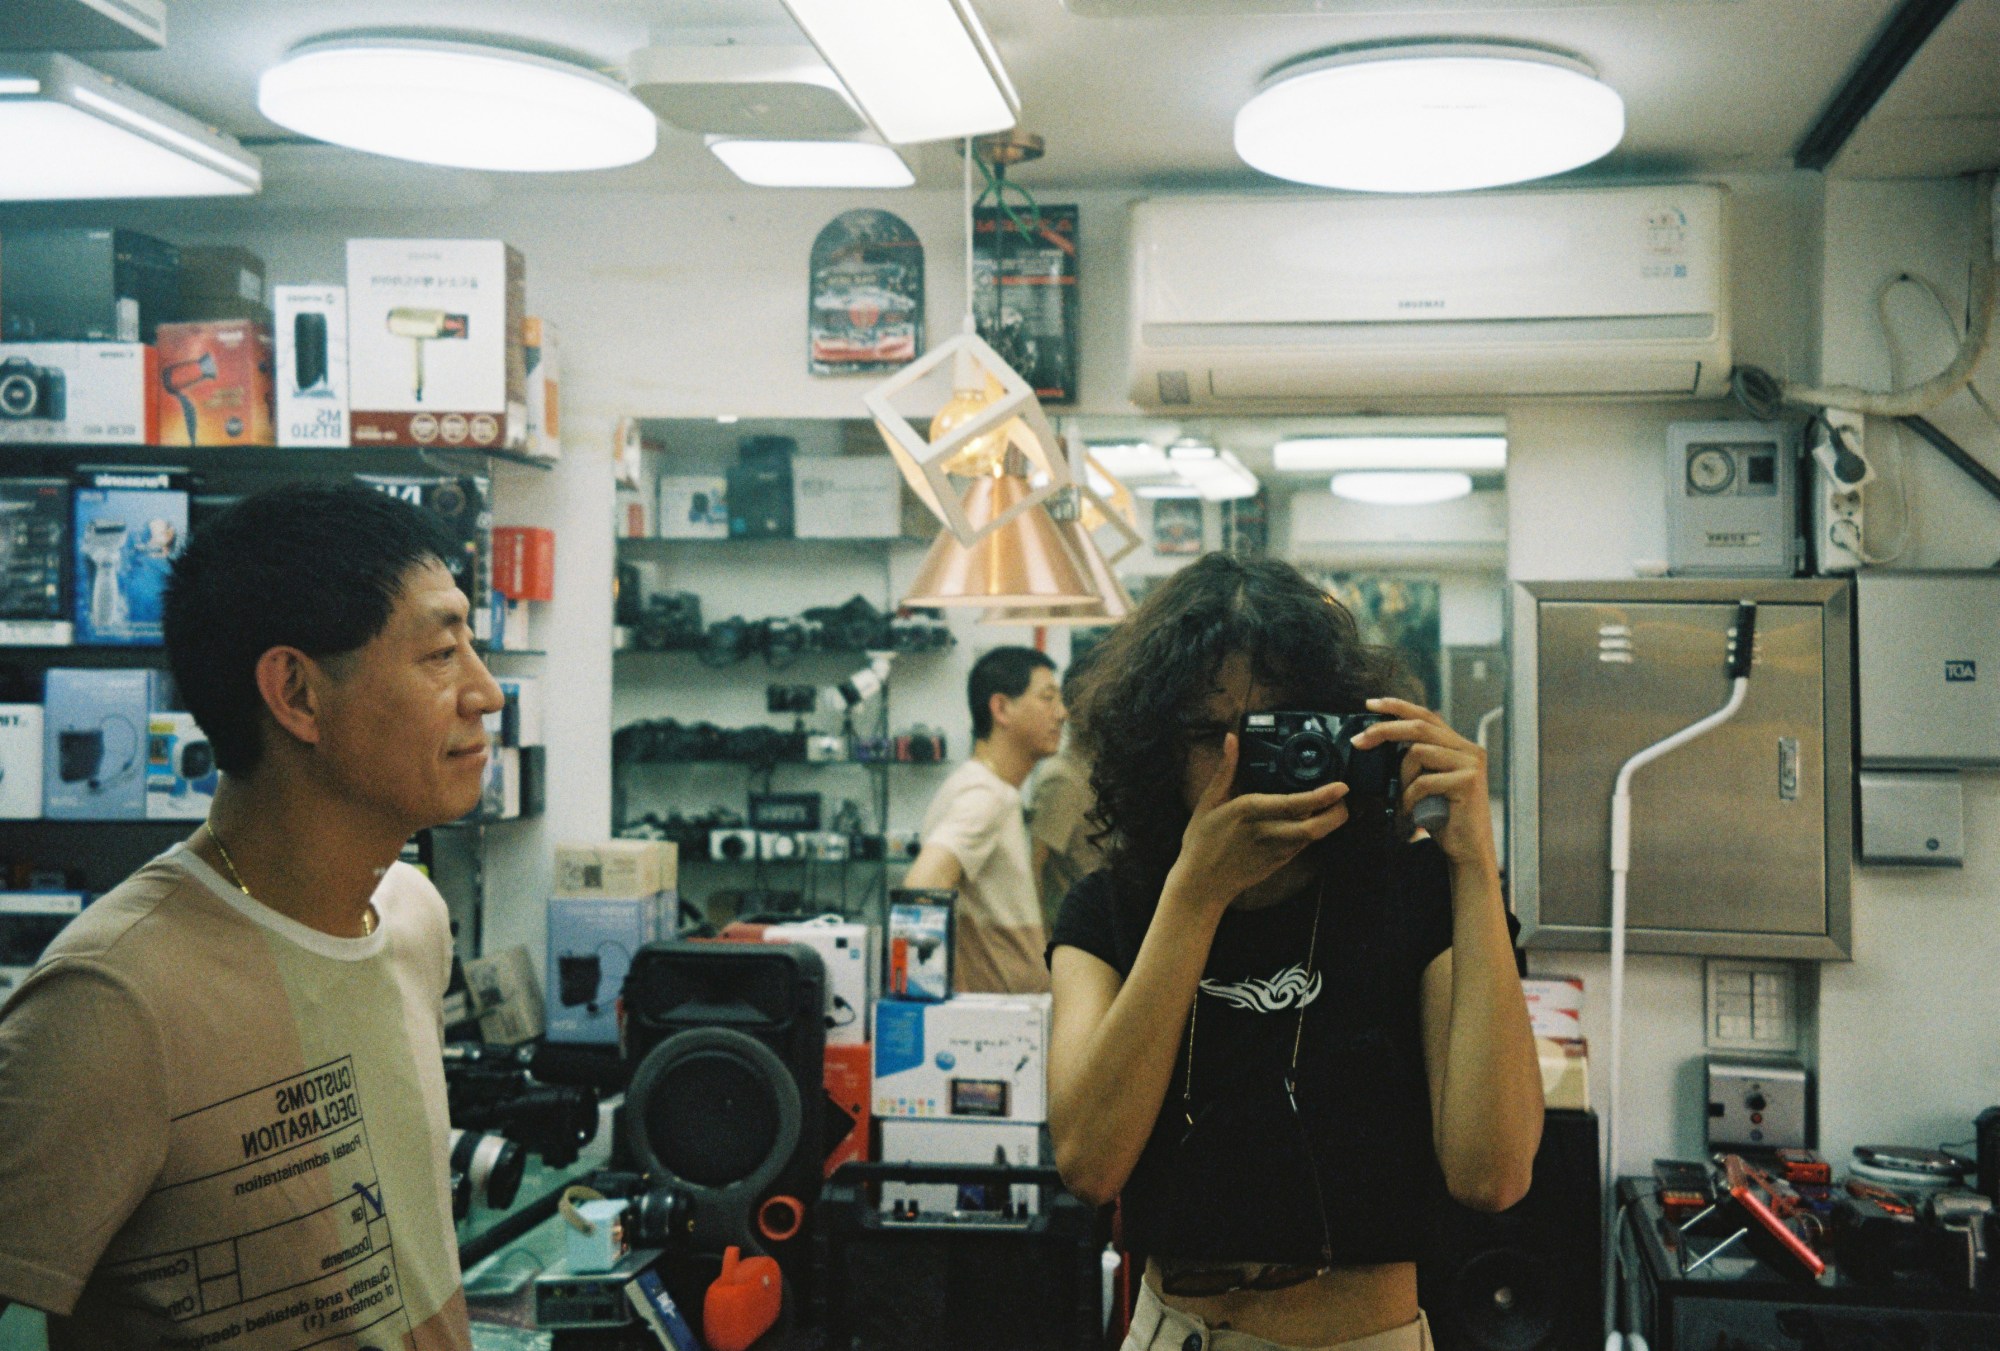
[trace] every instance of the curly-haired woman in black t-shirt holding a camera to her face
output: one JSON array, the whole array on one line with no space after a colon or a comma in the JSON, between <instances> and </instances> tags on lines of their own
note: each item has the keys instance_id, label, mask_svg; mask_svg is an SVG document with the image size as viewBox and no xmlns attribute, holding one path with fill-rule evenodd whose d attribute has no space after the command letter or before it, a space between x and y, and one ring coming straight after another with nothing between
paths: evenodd
<instances>
[{"instance_id":1,"label":"curly-haired woman in black t-shirt holding a camera to her face","mask_svg":"<svg viewBox=\"0 0 2000 1351\"><path fill-rule=\"evenodd\" d=\"M1298 572L1212 554L1084 683L1110 865L1050 943L1050 1131L1148 1255L1126 1351L1426 1351L1424 1197L1528 1189L1542 1079L1486 757L1394 681ZM1404 743L1394 821L1342 783L1236 791L1242 717L1272 709L1382 715L1354 745ZM1412 837L1432 795L1450 819Z\"/></svg>"}]
</instances>

